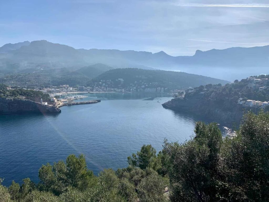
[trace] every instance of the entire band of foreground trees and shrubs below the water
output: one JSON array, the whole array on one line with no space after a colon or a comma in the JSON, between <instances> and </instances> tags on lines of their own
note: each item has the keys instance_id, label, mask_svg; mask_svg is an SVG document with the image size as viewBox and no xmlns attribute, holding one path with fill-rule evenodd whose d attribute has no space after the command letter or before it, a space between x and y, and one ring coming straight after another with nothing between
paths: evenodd
<instances>
[{"instance_id":1,"label":"entire band of foreground trees and shrubs below the water","mask_svg":"<svg viewBox=\"0 0 269 202\"><path fill-rule=\"evenodd\" d=\"M0 183L0 201L269 201L269 113L246 113L225 138L216 123L197 122L194 133L182 144L165 140L158 155L143 145L127 168L104 169L98 177L83 155L47 163L37 184L29 178L8 188Z\"/></svg>"}]
</instances>

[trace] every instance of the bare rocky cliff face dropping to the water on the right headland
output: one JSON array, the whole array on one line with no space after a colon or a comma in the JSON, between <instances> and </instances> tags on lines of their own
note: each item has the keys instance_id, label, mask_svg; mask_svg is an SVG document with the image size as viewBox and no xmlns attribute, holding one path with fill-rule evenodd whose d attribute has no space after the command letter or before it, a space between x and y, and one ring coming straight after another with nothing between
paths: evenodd
<instances>
[{"instance_id":1,"label":"bare rocky cliff face dropping to the water on the right headland","mask_svg":"<svg viewBox=\"0 0 269 202\"><path fill-rule=\"evenodd\" d=\"M239 124L244 110L242 106L234 108L232 111L223 111L210 104L201 105L199 99L180 99L174 98L162 106L166 109L171 109L177 112L190 112L195 113L206 118L215 120L216 122L228 124L231 126L233 123Z\"/></svg>"}]
</instances>

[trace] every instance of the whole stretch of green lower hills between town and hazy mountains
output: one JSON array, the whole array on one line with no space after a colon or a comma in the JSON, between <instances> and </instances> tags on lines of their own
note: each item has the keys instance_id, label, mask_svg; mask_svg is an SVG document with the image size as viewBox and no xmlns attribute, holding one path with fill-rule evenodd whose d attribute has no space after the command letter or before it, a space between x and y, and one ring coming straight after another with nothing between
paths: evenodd
<instances>
[{"instance_id":1,"label":"whole stretch of green lower hills between town and hazy mountains","mask_svg":"<svg viewBox=\"0 0 269 202\"><path fill-rule=\"evenodd\" d=\"M171 89L188 88L189 86L206 85L208 83L228 83L228 81L221 79L187 74L184 72L145 70L137 68L113 69L104 64L90 65L80 68L77 71L70 71L67 68L38 68L31 69L30 72L25 70L17 74L0 74L0 83L10 86L25 86L28 88L38 86L42 88L44 86L59 86L65 84L69 86L89 86L93 82L100 82L100 80L115 81L118 78L123 78L125 80L123 87L140 80L146 83L157 82L157 87Z\"/></svg>"}]
</instances>

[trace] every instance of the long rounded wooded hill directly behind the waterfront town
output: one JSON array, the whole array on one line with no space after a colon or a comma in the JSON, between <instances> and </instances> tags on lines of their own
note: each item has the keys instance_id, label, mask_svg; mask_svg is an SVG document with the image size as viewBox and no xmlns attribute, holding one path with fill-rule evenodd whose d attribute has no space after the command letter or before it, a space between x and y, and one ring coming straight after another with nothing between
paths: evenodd
<instances>
[{"instance_id":1,"label":"long rounded wooded hill directly behind the waterfront town","mask_svg":"<svg viewBox=\"0 0 269 202\"><path fill-rule=\"evenodd\" d=\"M136 81L142 81L148 84L157 82L157 87L171 89L189 88L189 86L206 85L208 83L228 83L228 81L221 79L196 74L188 74L185 72L146 70L137 68L112 69L97 76L92 81L100 82L101 80L111 80L115 82L116 85L116 80L119 78L124 80L122 83L123 87L129 86L130 83L134 84ZM118 81L118 84L121 84L121 82Z\"/></svg>"}]
</instances>

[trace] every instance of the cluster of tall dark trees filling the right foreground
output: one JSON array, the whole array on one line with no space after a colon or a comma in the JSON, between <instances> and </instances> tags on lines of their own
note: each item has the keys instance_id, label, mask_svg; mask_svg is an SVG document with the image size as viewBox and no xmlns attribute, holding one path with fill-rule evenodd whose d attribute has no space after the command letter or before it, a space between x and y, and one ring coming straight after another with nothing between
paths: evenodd
<instances>
[{"instance_id":1,"label":"cluster of tall dark trees filling the right foreground","mask_svg":"<svg viewBox=\"0 0 269 202\"><path fill-rule=\"evenodd\" d=\"M196 123L183 144L165 141L171 201L269 201L269 114L247 113L234 138Z\"/></svg>"}]
</instances>

